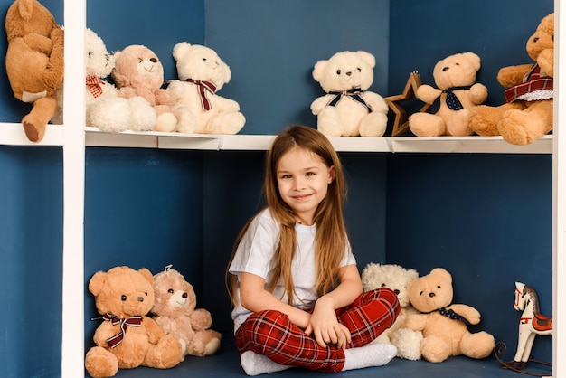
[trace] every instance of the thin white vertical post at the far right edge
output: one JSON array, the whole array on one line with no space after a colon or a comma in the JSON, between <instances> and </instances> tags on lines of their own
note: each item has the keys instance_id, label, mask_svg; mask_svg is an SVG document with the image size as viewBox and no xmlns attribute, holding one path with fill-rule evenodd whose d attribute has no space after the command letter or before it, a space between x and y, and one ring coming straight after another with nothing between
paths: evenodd
<instances>
[{"instance_id":1,"label":"thin white vertical post at the far right edge","mask_svg":"<svg viewBox=\"0 0 566 378\"><path fill-rule=\"evenodd\" d=\"M563 1L563 0L562 0ZM552 147L552 376L566 377L566 8L554 1ZM563 31L563 32L562 32ZM562 319L562 320L560 320ZM564 323L562 323L564 322Z\"/></svg>"}]
</instances>

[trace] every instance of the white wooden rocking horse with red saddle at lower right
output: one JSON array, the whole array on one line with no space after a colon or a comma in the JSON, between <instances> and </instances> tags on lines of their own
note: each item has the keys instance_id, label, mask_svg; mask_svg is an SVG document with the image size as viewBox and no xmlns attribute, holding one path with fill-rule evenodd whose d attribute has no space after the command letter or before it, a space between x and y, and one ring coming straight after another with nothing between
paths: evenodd
<instances>
[{"instance_id":1,"label":"white wooden rocking horse with red saddle at lower right","mask_svg":"<svg viewBox=\"0 0 566 378\"><path fill-rule=\"evenodd\" d=\"M513 361L502 362L502 369L511 369L521 371L526 367L533 348L534 337L536 335L552 334L552 317L542 315L539 308L539 298L534 288L525 285L522 282L515 282L514 309L523 311L519 318L519 341L517 345L517 353L514 355ZM505 352L505 351L504 351ZM495 353L495 355L497 355ZM539 364L546 364L535 361ZM546 364L550 365L550 364ZM537 375L537 374L529 374ZM538 376L538 375L537 375Z\"/></svg>"}]
</instances>

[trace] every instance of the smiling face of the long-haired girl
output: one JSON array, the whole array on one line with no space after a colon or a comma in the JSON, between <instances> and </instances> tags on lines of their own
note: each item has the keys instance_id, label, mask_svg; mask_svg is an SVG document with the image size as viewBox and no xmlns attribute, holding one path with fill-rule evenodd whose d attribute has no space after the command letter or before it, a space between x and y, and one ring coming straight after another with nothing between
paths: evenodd
<instances>
[{"instance_id":1,"label":"smiling face of the long-haired girl","mask_svg":"<svg viewBox=\"0 0 566 378\"><path fill-rule=\"evenodd\" d=\"M295 147L280 157L277 166L279 194L297 214L297 222L313 224L318 203L335 178L333 166L326 166L320 156Z\"/></svg>"}]
</instances>

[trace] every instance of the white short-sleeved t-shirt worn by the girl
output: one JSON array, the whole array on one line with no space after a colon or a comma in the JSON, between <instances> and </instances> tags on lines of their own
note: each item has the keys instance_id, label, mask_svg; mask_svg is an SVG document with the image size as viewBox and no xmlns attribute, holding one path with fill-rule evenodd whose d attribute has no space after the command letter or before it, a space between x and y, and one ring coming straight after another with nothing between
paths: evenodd
<instances>
[{"instance_id":1,"label":"white short-sleeved t-shirt worn by the girl","mask_svg":"<svg viewBox=\"0 0 566 378\"><path fill-rule=\"evenodd\" d=\"M316 283L316 263L315 263L315 235L316 226L305 226L297 223L297 252L292 262L291 274L295 284L296 297L293 306L307 309L314 306L318 298L315 290ZM279 224L276 222L269 209L261 211L250 223L250 228L241 239L240 245L236 250L234 259L230 265L230 273L238 276L237 297L238 306L232 311L234 321L234 332L241 326L244 320L250 316L251 312L240 304L240 273L252 273L265 279L265 288L269 288L271 271L271 260L278 246ZM350 244L344 250L344 259L340 267L355 264L354 255ZM280 298L287 303L287 294L283 295L283 282L273 291L276 298Z\"/></svg>"}]
</instances>

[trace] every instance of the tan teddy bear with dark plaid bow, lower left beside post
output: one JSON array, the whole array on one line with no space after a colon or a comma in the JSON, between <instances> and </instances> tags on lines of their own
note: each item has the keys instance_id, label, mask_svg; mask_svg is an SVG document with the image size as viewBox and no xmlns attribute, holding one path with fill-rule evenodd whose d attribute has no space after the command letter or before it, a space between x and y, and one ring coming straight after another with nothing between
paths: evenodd
<instances>
[{"instance_id":1,"label":"tan teddy bear with dark plaid bow, lower left beside post","mask_svg":"<svg viewBox=\"0 0 566 378\"><path fill-rule=\"evenodd\" d=\"M165 335L148 317L154 305L153 275L146 269L118 266L96 272L89 291L102 323L94 333L95 346L85 357L93 378L111 377L119 369L148 366L168 369L184 360L184 341Z\"/></svg>"}]
</instances>

